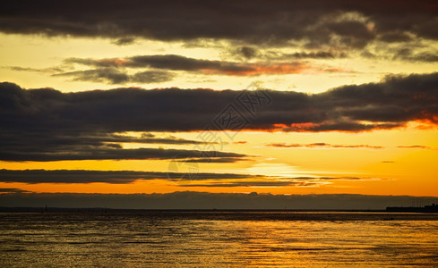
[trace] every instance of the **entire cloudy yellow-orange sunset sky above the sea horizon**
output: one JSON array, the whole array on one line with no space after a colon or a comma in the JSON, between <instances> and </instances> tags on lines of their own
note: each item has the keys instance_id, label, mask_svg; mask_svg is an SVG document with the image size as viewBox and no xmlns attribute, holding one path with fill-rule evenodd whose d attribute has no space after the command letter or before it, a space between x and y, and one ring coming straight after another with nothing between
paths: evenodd
<instances>
[{"instance_id":1,"label":"entire cloudy yellow-orange sunset sky above the sea horizon","mask_svg":"<svg viewBox=\"0 0 438 268\"><path fill-rule=\"evenodd\" d=\"M4 3L0 206L438 197L437 14L402 0Z\"/></svg>"}]
</instances>

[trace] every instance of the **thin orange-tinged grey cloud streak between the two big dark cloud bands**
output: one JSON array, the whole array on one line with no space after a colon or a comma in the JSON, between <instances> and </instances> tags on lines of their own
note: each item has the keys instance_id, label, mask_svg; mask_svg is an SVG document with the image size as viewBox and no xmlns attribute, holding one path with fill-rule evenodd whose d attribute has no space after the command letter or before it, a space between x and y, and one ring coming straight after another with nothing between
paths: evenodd
<instances>
[{"instance_id":1,"label":"thin orange-tinged grey cloud streak between the two big dark cloud bands","mask_svg":"<svg viewBox=\"0 0 438 268\"><path fill-rule=\"evenodd\" d=\"M249 48L248 48L249 49ZM250 54L250 52L245 52ZM230 76L259 76L269 74L293 74L303 71L333 72L340 69L327 69L312 66L300 61L291 61L292 58L326 57L325 53L275 55L283 61L271 63L272 56L265 56L265 61L257 63L236 63L227 61L211 61L189 58L177 54L136 55L125 58L67 58L63 68L52 67L44 69L8 66L13 71L36 71L48 73L55 77L71 77L75 81L91 81L107 84L134 83L162 83L173 80L176 71L189 71L202 75L230 75ZM269 61L267 61L269 60ZM74 64L88 66L89 70L75 70ZM143 69L146 71L129 73L128 68Z\"/></svg>"}]
</instances>

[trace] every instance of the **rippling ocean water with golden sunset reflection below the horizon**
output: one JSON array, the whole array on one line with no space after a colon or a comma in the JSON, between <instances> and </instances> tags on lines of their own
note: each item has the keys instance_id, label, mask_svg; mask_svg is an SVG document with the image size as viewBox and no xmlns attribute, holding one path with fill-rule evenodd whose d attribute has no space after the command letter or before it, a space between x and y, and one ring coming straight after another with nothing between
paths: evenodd
<instances>
[{"instance_id":1,"label":"rippling ocean water with golden sunset reflection below the horizon","mask_svg":"<svg viewBox=\"0 0 438 268\"><path fill-rule=\"evenodd\" d=\"M1 213L0 267L438 267L438 214Z\"/></svg>"}]
</instances>

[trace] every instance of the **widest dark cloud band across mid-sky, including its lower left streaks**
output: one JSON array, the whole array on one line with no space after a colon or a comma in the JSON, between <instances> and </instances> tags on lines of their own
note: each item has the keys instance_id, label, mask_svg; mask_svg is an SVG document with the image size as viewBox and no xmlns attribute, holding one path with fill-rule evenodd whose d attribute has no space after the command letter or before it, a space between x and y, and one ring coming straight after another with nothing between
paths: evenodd
<instances>
[{"instance_id":1,"label":"widest dark cloud band across mid-sky, including its lower left streaks","mask_svg":"<svg viewBox=\"0 0 438 268\"><path fill-rule=\"evenodd\" d=\"M230 114L232 121L228 120ZM205 130L209 125L212 130L358 132L403 127L409 121L438 124L438 73L389 76L379 83L344 86L313 95L179 88L62 93L50 88L26 90L11 83L0 84L0 155L4 160L41 157L48 161L56 154L63 159L80 158L69 153L72 147L65 147L71 140L59 138L96 133L192 131ZM96 144L85 140L76 142L73 151L89 155L87 159L104 155L110 155L107 159L170 156L170 151L164 149L127 151L103 140L96 148ZM54 145L47 146L51 142ZM181 153L199 158L199 153L193 151ZM241 156L245 155L216 155Z\"/></svg>"}]
</instances>

